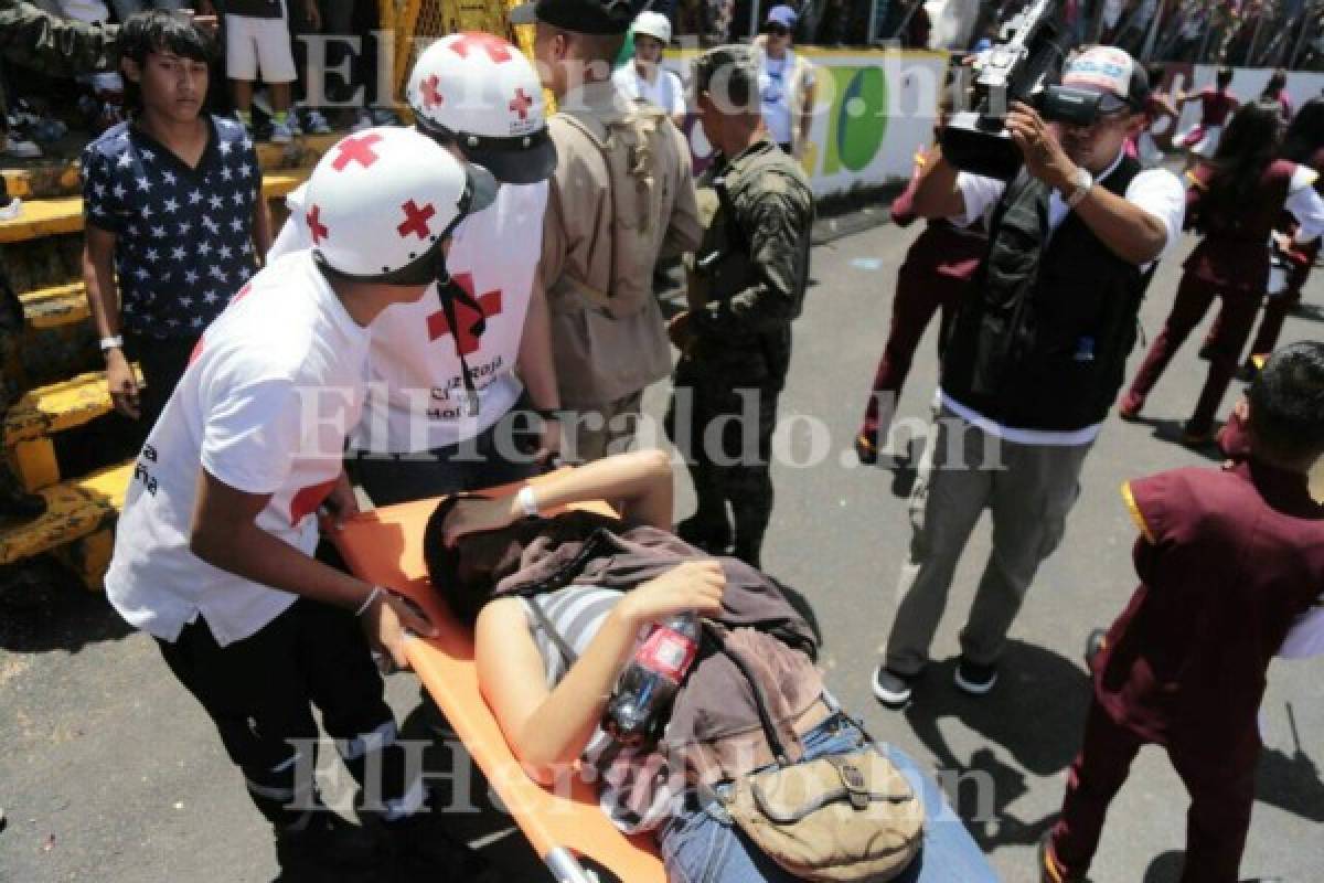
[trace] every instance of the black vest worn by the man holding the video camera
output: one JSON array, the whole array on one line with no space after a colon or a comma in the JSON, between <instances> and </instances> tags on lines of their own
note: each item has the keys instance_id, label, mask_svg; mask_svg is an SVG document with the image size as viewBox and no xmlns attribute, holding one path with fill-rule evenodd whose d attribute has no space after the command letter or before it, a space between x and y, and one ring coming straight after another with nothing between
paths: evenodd
<instances>
[{"instance_id":1,"label":"black vest worn by the man holding the video camera","mask_svg":"<svg viewBox=\"0 0 1324 883\"><path fill-rule=\"evenodd\" d=\"M1096 187L1124 196L1140 171L1124 156ZM1050 238L1050 196L1022 172L998 201L944 348L943 391L1005 426L1068 432L1107 417L1152 269L1117 257L1075 212Z\"/></svg>"}]
</instances>

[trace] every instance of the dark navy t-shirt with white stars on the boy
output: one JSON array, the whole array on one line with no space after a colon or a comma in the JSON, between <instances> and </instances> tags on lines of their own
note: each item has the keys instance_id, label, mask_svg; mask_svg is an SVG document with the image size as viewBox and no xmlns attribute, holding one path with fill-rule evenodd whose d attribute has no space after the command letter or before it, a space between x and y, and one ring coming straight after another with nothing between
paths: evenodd
<instances>
[{"instance_id":1,"label":"dark navy t-shirt with white stars on the boy","mask_svg":"<svg viewBox=\"0 0 1324 883\"><path fill-rule=\"evenodd\" d=\"M195 168L128 123L83 151L83 216L115 234L130 334L196 338L257 271L257 152L233 120L209 116L208 130Z\"/></svg>"}]
</instances>

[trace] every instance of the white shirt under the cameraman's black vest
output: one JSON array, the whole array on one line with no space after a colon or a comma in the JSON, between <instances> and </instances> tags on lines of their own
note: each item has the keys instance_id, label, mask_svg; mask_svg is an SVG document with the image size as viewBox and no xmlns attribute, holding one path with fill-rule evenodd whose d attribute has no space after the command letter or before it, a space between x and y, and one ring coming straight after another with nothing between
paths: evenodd
<instances>
[{"instance_id":1,"label":"white shirt under the cameraman's black vest","mask_svg":"<svg viewBox=\"0 0 1324 883\"><path fill-rule=\"evenodd\" d=\"M1121 158L1123 154L1119 152L1117 159L1112 160L1112 164L1102 175L1096 175L1095 180L1099 181L1111 175L1121 163ZM961 191L961 197L965 200L965 213L951 220L961 226L969 226L984 217L1002 199L1006 183L993 177L984 177L982 175L960 172L956 176L956 187ZM1131 180L1131 184L1127 187L1125 199L1128 203L1139 205L1162 221L1164 228L1168 230L1168 238L1158 258L1155 258L1156 261L1161 259L1181 238L1181 226L1186 218L1186 191L1182 188L1181 181L1166 169L1145 169ZM1062 221L1066 220L1068 210L1062 195L1053 191L1053 196L1049 200L1050 237L1062 225ZM1088 445L1099 436L1099 430L1103 428L1103 424L1095 424L1084 429L1059 432L1004 426L973 408L956 401L941 389L939 395L943 405L961 420L990 436L997 436L1018 445Z\"/></svg>"}]
</instances>

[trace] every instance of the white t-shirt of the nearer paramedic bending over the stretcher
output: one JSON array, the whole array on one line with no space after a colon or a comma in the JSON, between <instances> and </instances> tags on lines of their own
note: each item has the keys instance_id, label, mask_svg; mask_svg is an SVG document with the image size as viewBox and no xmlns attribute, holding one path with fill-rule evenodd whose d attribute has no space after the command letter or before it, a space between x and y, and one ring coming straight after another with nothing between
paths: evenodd
<instances>
[{"instance_id":1,"label":"white t-shirt of the nearer paramedic bending over the stretcher","mask_svg":"<svg viewBox=\"0 0 1324 883\"><path fill-rule=\"evenodd\" d=\"M106 596L131 625L175 641L199 614L225 646L295 596L189 551L200 470L270 494L257 526L312 555L316 510L361 417L369 335L299 252L269 263L208 327L138 458Z\"/></svg>"}]
</instances>

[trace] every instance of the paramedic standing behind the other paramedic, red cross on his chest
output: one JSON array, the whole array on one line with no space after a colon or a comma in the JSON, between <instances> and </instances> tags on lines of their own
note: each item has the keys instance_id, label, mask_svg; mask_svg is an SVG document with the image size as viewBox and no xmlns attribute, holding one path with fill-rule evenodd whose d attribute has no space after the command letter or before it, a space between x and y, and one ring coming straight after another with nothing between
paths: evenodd
<instances>
[{"instance_id":1,"label":"paramedic standing behind the other paramedic, red cross on his chest","mask_svg":"<svg viewBox=\"0 0 1324 883\"><path fill-rule=\"evenodd\" d=\"M454 287L429 289L372 328L369 398L351 451L376 506L522 481L560 450L536 278L556 151L538 74L499 37L451 34L418 58L406 95L418 131L502 184L494 204L455 230L446 258ZM303 188L286 197L290 216L271 254L311 245L305 203Z\"/></svg>"}]
</instances>

